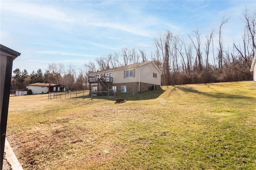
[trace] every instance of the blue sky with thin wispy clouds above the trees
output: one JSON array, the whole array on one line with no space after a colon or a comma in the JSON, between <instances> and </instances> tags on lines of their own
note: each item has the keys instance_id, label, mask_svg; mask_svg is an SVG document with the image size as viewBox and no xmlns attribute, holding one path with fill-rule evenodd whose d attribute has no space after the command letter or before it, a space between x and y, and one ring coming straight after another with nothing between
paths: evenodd
<instances>
[{"instance_id":1,"label":"blue sky with thin wispy clouds above the trees","mask_svg":"<svg viewBox=\"0 0 256 170\"><path fill-rule=\"evenodd\" d=\"M169 30L186 41L196 29L204 37L223 17L223 42L232 47L241 41L245 8L252 14L256 1L1 0L0 43L21 53L12 69L29 73L51 63L79 69L123 47L143 49L150 60L155 37Z\"/></svg>"}]
</instances>

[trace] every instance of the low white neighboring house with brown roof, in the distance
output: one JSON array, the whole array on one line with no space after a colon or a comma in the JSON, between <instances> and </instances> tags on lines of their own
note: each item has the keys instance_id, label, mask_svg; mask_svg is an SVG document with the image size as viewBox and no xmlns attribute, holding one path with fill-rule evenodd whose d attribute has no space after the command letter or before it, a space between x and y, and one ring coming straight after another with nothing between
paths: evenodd
<instances>
[{"instance_id":1,"label":"low white neighboring house with brown roof, in the distance","mask_svg":"<svg viewBox=\"0 0 256 170\"><path fill-rule=\"evenodd\" d=\"M26 88L31 89L33 94L66 91L66 88L63 85L52 83L34 83L27 85Z\"/></svg>"}]
</instances>

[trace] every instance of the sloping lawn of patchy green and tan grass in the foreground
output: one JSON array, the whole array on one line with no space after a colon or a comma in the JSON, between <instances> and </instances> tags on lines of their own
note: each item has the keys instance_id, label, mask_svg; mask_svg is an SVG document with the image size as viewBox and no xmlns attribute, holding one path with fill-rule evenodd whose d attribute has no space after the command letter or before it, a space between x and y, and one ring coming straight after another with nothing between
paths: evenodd
<instances>
[{"instance_id":1,"label":"sloping lawn of patchy green and tan grass in the foreground","mask_svg":"<svg viewBox=\"0 0 256 170\"><path fill-rule=\"evenodd\" d=\"M7 139L24 169L256 169L256 83L126 99L10 97Z\"/></svg>"}]
</instances>

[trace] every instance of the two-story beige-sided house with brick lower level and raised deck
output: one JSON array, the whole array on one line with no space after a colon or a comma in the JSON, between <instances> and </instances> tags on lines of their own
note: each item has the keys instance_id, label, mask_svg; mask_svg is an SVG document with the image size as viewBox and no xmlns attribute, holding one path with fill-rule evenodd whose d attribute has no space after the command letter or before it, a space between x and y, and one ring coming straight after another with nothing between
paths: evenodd
<instances>
[{"instance_id":1,"label":"two-story beige-sided house with brick lower level and raised deck","mask_svg":"<svg viewBox=\"0 0 256 170\"><path fill-rule=\"evenodd\" d=\"M116 95L133 95L161 87L161 71L153 61L97 71L89 78L92 92L112 89Z\"/></svg>"}]
</instances>

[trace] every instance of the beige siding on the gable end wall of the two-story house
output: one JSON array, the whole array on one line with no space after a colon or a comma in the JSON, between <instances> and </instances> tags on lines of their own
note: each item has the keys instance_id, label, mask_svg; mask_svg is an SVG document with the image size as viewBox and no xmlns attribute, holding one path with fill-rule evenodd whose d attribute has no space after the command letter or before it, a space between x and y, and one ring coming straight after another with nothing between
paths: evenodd
<instances>
[{"instance_id":1,"label":"beige siding on the gable end wall of the two-story house","mask_svg":"<svg viewBox=\"0 0 256 170\"><path fill-rule=\"evenodd\" d=\"M153 77L153 73L157 73L157 78ZM140 82L161 85L161 73L152 63L142 65L140 67Z\"/></svg>"}]
</instances>

